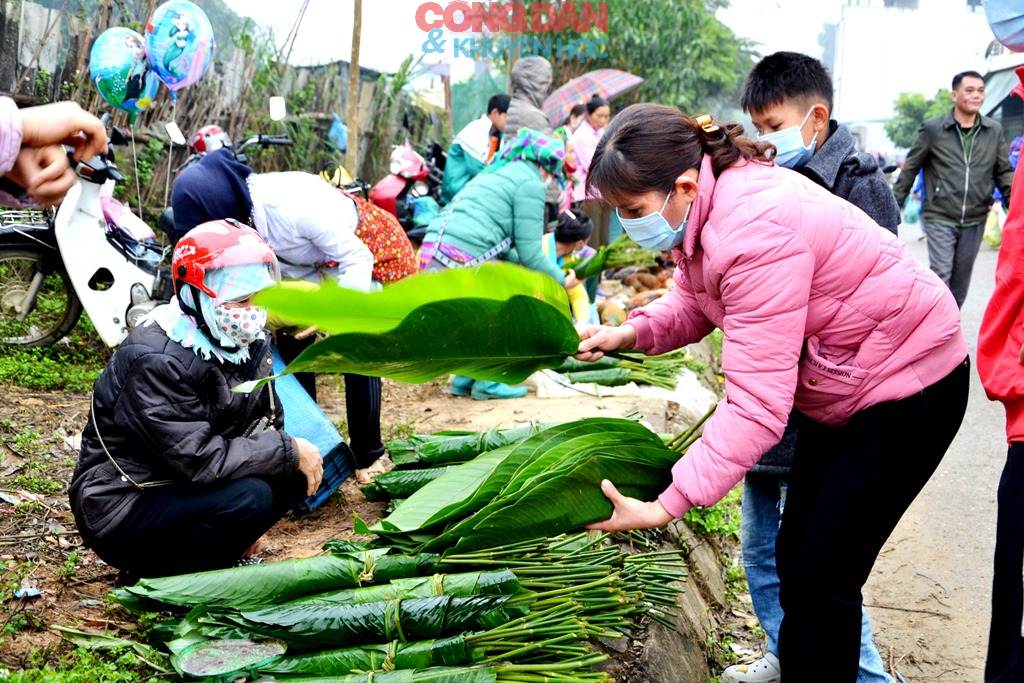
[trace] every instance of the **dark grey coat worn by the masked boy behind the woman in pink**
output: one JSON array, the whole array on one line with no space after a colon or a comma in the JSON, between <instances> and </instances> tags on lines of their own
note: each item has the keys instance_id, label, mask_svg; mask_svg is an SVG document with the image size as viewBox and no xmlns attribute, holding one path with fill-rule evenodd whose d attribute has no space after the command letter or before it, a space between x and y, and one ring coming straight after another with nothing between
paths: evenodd
<instances>
[{"instance_id":1,"label":"dark grey coat worn by the masked boy behind the woman in pink","mask_svg":"<svg viewBox=\"0 0 1024 683\"><path fill-rule=\"evenodd\" d=\"M828 130L828 138L824 144L799 171L896 234L900 222L899 206L886 176L879 168L878 160L868 154L857 153L853 134L846 126L829 121ZM782 439L761 457L752 472L790 476L793 456L797 450L798 429L795 420L796 416L791 415Z\"/></svg>"}]
</instances>

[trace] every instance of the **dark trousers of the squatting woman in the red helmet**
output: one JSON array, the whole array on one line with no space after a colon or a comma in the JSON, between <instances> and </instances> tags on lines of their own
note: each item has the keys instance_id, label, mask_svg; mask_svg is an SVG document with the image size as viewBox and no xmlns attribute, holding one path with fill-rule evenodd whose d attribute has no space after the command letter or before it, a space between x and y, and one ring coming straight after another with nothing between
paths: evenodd
<instances>
[{"instance_id":1,"label":"dark trousers of the squatting woman in the red helmet","mask_svg":"<svg viewBox=\"0 0 1024 683\"><path fill-rule=\"evenodd\" d=\"M135 578L222 569L305 495L301 472L147 488L112 533L89 546L104 562Z\"/></svg>"}]
</instances>

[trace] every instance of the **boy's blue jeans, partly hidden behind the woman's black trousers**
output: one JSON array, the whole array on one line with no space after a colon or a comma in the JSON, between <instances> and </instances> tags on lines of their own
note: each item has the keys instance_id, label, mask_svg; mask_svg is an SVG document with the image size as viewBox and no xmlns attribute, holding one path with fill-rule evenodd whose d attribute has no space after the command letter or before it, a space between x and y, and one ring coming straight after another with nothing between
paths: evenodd
<instances>
[{"instance_id":1,"label":"boy's blue jeans, partly hidden behind the woman's black trousers","mask_svg":"<svg viewBox=\"0 0 1024 683\"><path fill-rule=\"evenodd\" d=\"M778 631L782 624L779 604L779 581L775 568L775 538L785 509L787 482L772 474L748 473L743 480L743 505L740 542L743 569L751 591L754 611L768 636L768 651L778 656ZM867 612L860 622L860 671L857 683L893 683L874 647ZM783 672L785 663L781 663Z\"/></svg>"}]
</instances>

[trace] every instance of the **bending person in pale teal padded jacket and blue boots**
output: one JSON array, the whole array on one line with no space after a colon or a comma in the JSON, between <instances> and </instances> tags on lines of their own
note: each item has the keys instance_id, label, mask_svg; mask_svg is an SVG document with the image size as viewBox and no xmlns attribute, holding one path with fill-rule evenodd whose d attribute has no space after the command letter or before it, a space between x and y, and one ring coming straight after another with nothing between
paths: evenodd
<instances>
[{"instance_id":1,"label":"bending person in pale teal padded jacket and blue boots","mask_svg":"<svg viewBox=\"0 0 1024 683\"><path fill-rule=\"evenodd\" d=\"M564 161L561 142L520 129L427 226L420 268L474 267L497 259L544 272L566 289L578 285L575 275L562 272L543 246L547 187L562 176ZM526 389L457 377L452 393L477 399L515 398Z\"/></svg>"}]
</instances>

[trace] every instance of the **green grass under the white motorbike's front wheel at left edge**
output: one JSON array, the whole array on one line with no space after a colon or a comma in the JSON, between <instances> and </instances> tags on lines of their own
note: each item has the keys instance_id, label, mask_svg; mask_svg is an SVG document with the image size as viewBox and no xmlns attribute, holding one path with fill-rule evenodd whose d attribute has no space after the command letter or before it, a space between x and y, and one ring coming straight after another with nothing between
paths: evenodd
<instances>
[{"instance_id":1,"label":"green grass under the white motorbike's front wheel at left edge","mask_svg":"<svg viewBox=\"0 0 1024 683\"><path fill-rule=\"evenodd\" d=\"M92 391L100 371L110 360L109 349L88 316L82 315L71 335L52 346L6 347L0 354L0 384L33 391Z\"/></svg>"}]
</instances>

